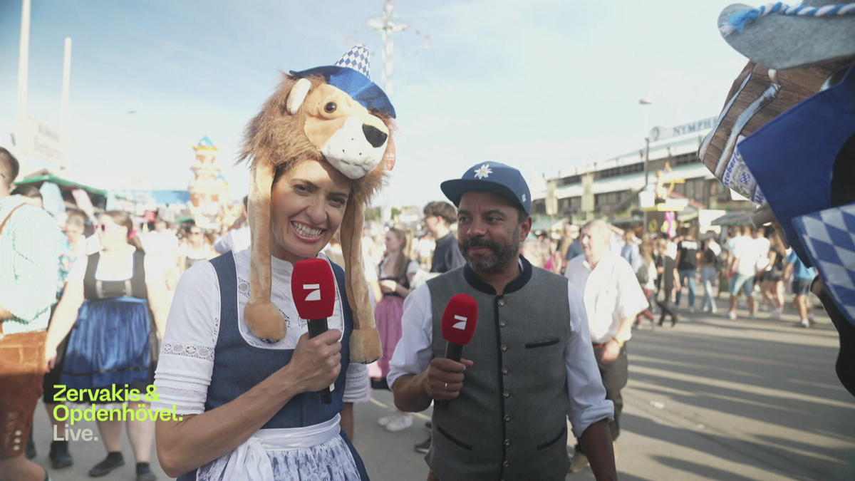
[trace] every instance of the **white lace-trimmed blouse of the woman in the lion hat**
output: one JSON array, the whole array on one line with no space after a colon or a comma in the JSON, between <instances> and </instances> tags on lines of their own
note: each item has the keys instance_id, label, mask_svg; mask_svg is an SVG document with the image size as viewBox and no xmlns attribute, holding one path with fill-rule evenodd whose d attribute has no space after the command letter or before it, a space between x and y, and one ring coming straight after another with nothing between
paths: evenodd
<instances>
[{"instance_id":1,"label":"white lace-trimmed blouse of the woman in the lion hat","mask_svg":"<svg viewBox=\"0 0 855 481\"><path fill-rule=\"evenodd\" d=\"M318 254L318 257L327 259L323 254ZM250 251L235 253L234 263L238 274L237 322L244 341L250 346L263 349L297 347L299 337L308 332L308 327L306 320L298 316L297 308L291 299L293 264L279 258L271 258L271 301L279 307L286 319L288 332L285 339L269 344L255 336L244 323L244 307L250 298ZM335 294L335 309L327 324L329 329L344 331L338 282ZM199 261L186 270L175 288L155 373L155 386L160 399L152 402L152 407L171 409L175 404L175 412L179 414L204 412L208 386L214 371L220 320L220 284L216 271L208 261ZM364 401L368 396L368 367L351 363L346 372L344 401Z\"/></svg>"}]
</instances>

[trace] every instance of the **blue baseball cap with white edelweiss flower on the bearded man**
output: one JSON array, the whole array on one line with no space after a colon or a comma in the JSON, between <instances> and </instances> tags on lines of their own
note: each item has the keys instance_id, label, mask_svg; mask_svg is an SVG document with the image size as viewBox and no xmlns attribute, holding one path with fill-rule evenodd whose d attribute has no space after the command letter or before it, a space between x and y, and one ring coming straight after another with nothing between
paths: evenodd
<instances>
[{"instance_id":1,"label":"blue baseball cap with white edelweiss flower on the bearded man","mask_svg":"<svg viewBox=\"0 0 855 481\"><path fill-rule=\"evenodd\" d=\"M504 197L522 207L527 214L532 211L532 194L528 190L528 183L519 170L504 163L476 163L466 169L461 178L445 181L439 184L439 188L458 207L464 193L480 191Z\"/></svg>"}]
</instances>

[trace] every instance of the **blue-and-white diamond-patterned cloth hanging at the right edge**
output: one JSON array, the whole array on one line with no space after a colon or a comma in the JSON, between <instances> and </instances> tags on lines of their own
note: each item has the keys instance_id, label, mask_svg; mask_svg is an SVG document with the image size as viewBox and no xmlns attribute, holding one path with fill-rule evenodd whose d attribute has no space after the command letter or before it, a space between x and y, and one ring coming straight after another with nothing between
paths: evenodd
<instances>
[{"instance_id":1,"label":"blue-and-white diamond-patterned cloth hanging at the right edge","mask_svg":"<svg viewBox=\"0 0 855 481\"><path fill-rule=\"evenodd\" d=\"M796 217L793 226L828 294L855 324L855 204Z\"/></svg>"}]
</instances>

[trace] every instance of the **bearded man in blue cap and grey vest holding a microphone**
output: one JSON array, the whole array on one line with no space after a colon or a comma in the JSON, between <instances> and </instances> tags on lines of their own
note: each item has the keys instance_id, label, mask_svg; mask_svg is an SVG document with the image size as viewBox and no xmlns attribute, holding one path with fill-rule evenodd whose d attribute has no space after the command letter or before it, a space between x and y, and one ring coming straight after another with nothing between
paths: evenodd
<instances>
[{"instance_id":1,"label":"bearded man in blue cap and grey vest holding a microphone","mask_svg":"<svg viewBox=\"0 0 855 481\"><path fill-rule=\"evenodd\" d=\"M567 474L567 422L597 479L616 479L605 399L585 306L563 276L520 255L532 219L519 170L481 163L440 186L458 207L466 264L429 280L404 301L403 336L386 377L398 409L433 401L428 480L560 481ZM442 313L469 294L481 321L456 362L445 359Z\"/></svg>"}]
</instances>

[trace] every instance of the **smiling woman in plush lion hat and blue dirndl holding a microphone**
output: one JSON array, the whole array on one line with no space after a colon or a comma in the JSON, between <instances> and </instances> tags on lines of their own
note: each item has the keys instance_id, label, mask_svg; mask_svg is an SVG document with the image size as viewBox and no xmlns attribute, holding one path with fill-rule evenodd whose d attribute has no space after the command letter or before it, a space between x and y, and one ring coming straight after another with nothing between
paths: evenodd
<instances>
[{"instance_id":1,"label":"smiling woman in plush lion hat and blue dirndl holding a microphone","mask_svg":"<svg viewBox=\"0 0 855 481\"><path fill-rule=\"evenodd\" d=\"M249 124L252 246L181 277L156 371L157 453L179 479L366 480L344 427L380 357L360 237L363 209L394 163L395 111L369 80L368 51L291 72ZM341 229L329 330L309 338L293 264ZM315 391L334 384L332 404ZM341 426L341 427L340 427Z\"/></svg>"}]
</instances>

